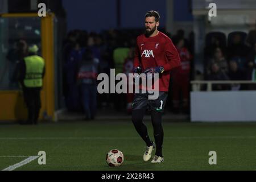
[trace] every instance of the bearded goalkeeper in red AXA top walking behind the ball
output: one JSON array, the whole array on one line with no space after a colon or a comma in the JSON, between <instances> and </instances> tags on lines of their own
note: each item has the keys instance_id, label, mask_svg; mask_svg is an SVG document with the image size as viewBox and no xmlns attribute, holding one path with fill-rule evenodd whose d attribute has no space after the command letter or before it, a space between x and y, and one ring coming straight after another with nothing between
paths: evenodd
<instances>
[{"instance_id":1,"label":"bearded goalkeeper in red AXA top walking behind the ball","mask_svg":"<svg viewBox=\"0 0 256 182\"><path fill-rule=\"evenodd\" d=\"M145 32L137 38L134 58L134 73L159 73L159 97L148 100L148 93L135 94L132 105L132 121L138 134L146 143L143 160L151 159L152 150L156 149L151 163L163 162L163 127L162 113L168 96L170 71L180 66L180 58L172 40L158 31L160 16L156 11L145 15ZM147 108L151 109L151 121L154 127L155 144L148 137L147 127L142 122Z\"/></svg>"}]
</instances>

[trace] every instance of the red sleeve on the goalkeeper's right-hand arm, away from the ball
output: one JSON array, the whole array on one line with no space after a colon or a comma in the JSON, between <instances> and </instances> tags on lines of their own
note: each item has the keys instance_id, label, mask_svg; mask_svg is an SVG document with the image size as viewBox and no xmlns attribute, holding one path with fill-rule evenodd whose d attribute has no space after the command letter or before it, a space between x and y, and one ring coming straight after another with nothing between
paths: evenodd
<instances>
[{"instance_id":1,"label":"red sleeve on the goalkeeper's right-hand arm, away from the ball","mask_svg":"<svg viewBox=\"0 0 256 182\"><path fill-rule=\"evenodd\" d=\"M166 47L164 49L168 63L164 64L164 71L171 71L171 69L180 66L180 56L179 52L177 51L176 47L172 43L172 40L168 40L166 43Z\"/></svg>"}]
</instances>

